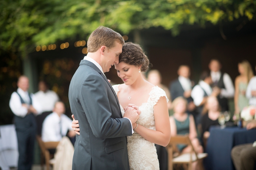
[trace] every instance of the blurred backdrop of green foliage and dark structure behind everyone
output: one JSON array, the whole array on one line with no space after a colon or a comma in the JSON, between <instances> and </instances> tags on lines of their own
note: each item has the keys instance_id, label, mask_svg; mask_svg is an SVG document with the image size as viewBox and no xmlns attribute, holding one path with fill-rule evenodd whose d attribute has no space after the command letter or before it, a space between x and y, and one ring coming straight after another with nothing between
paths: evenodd
<instances>
[{"instance_id":1,"label":"blurred backdrop of green foliage and dark structure behind everyone","mask_svg":"<svg viewBox=\"0 0 256 170\"><path fill-rule=\"evenodd\" d=\"M255 9L255 0L1 0L0 125L12 123L9 100L22 74L32 93L48 82L70 117L69 82L100 25L140 44L165 86L180 65L191 68L197 84L212 58L234 82L238 62L256 64ZM114 68L106 75L122 83Z\"/></svg>"}]
</instances>

